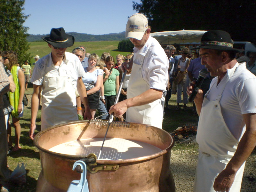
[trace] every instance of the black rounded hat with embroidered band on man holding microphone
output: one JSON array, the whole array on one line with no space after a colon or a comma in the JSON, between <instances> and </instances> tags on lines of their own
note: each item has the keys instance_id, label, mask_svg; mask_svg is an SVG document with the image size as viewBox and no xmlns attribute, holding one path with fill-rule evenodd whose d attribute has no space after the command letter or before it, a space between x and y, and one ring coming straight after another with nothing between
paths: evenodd
<instances>
[{"instance_id":1,"label":"black rounded hat with embroidered band on man holding microphone","mask_svg":"<svg viewBox=\"0 0 256 192\"><path fill-rule=\"evenodd\" d=\"M242 52L241 49L233 48L234 41L228 32L222 30L211 30L204 33L201 38L200 45L192 49L215 49L215 50L231 50L234 52Z\"/></svg>"}]
</instances>

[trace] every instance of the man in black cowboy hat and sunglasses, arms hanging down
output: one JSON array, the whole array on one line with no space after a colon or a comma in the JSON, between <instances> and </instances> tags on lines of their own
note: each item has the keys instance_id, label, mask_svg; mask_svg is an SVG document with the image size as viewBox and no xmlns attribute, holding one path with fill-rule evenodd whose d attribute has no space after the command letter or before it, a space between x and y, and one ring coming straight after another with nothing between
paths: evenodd
<instances>
[{"instance_id":1,"label":"man in black cowboy hat and sunglasses, arms hanging down","mask_svg":"<svg viewBox=\"0 0 256 192\"><path fill-rule=\"evenodd\" d=\"M31 77L34 92L31 98L31 126L29 136L34 138L36 115L42 90L41 130L53 125L78 120L76 115L75 89L84 103L84 119L91 119L85 86L82 82L84 69L78 57L65 52L74 44L74 36L63 28L52 28L50 35L42 39L48 43L51 53L36 62Z\"/></svg>"}]
</instances>

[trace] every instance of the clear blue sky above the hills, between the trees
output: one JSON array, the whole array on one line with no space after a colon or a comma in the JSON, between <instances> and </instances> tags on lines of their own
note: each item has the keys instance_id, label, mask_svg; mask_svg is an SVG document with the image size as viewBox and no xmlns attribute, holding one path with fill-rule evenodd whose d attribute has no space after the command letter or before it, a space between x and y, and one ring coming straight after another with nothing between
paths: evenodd
<instances>
[{"instance_id":1,"label":"clear blue sky above the hills, between the trees","mask_svg":"<svg viewBox=\"0 0 256 192\"><path fill-rule=\"evenodd\" d=\"M136 13L139 0L25 0L23 12L31 14L23 26L29 34L48 34L51 28L92 35L125 31L127 17Z\"/></svg>"}]
</instances>

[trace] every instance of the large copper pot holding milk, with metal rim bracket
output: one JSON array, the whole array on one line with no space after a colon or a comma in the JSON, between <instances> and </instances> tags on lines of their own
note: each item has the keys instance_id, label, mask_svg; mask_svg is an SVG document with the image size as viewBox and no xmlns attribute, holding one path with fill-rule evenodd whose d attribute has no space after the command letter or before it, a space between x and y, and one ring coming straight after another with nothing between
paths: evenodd
<instances>
[{"instance_id":1,"label":"large copper pot holding milk, with metal rim bracket","mask_svg":"<svg viewBox=\"0 0 256 192\"><path fill-rule=\"evenodd\" d=\"M48 149L77 139L103 138L108 122L77 121L60 124L39 132L34 144L40 151L42 170L37 192L66 192L72 180L81 174L72 170L73 164L84 156L65 155ZM124 160L96 160L87 165L86 179L90 192L175 192L170 170L172 136L162 129L137 123L114 123L107 138L118 132L122 139L141 141L160 148L159 153ZM93 172L94 171L94 172ZM98 171L98 172L97 172Z\"/></svg>"}]
</instances>

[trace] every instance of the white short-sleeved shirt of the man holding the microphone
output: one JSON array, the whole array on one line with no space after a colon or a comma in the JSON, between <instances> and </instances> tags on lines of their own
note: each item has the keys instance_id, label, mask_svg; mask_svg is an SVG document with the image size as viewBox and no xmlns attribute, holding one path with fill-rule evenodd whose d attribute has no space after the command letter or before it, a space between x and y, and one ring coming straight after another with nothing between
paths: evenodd
<instances>
[{"instance_id":1,"label":"white short-sleeved shirt of the man holding the microphone","mask_svg":"<svg viewBox=\"0 0 256 192\"><path fill-rule=\"evenodd\" d=\"M232 70L235 70L235 67L228 69L223 79L229 76ZM216 86L216 81L218 81L218 77L215 77L211 82L209 94L207 95L208 100L216 100L219 94L218 90L224 86L223 81L220 81L218 86ZM246 69L245 63L242 63L230 77L220 99L224 121L237 140L240 140L245 131L245 123L242 115L256 113L255 84L256 77Z\"/></svg>"}]
</instances>

